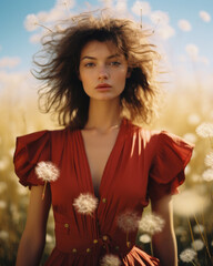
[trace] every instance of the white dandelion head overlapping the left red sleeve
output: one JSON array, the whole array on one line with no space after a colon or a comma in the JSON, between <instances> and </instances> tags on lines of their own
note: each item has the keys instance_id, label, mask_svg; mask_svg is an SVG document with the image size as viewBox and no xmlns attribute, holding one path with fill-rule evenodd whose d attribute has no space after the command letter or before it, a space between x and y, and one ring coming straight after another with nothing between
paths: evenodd
<instances>
[{"instance_id":1,"label":"white dandelion head overlapping the left red sleeve","mask_svg":"<svg viewBox=\"0 0 213 266\"><path fill-rule=\"evenodd\" d=\"M37 176L47 182L54 182L59 178L60 171L52 162L39 162L36 166Z\"/></svg>"}]
</instances>

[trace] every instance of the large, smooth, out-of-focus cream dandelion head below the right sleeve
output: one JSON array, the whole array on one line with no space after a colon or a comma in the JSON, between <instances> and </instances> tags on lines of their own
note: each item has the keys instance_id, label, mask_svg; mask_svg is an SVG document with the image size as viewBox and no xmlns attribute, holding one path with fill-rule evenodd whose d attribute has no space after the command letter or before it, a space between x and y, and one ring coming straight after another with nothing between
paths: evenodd
<instances>
[{"instance_id":1,"label":"large, smooth, out-of-focus cream dandelion head below the right sleeve","mask_svg":"<svg viewBox=\"0 0 213 266\"><path fill-rule=\"evenodd\" d=\"M176 215L190 217L201 213L209 205L206 196L195 190L185 190L173 197L173 208Z\"/></svg>"}]
</instances>

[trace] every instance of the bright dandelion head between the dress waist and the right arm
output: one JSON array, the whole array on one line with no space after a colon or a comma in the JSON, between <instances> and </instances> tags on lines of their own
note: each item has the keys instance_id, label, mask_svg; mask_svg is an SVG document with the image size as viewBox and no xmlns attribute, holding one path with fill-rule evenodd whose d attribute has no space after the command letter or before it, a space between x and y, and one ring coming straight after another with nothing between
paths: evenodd
<instances>
[{"instance_id":1,"label":"bright dandelion head between the dress waist and the right arm","mask_svg":"<svg viewBox=\"0 0 213 266\"><path fill-rule=\"evenodd\" d=\"M142 216L139 222L139 229L150 235L154 235L163 229L164 224L164 219L162 219L159 215L150 213Z\"/></svg>"}]
</instances>

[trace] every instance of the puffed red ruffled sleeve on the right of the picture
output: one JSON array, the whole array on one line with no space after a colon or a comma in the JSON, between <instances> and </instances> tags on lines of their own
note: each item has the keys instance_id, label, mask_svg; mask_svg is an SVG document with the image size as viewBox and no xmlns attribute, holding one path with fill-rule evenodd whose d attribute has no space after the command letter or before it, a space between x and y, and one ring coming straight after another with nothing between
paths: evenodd
<instances>
[{"instance_id":1,"label":"puffed red ruffled sleeve on the right of the picture","mask_svg":"<svg viewBox=\"0 0 213 266\"><path fill-rule=\"evenodd\" d=\"M193 147L194 145L165 131L159 134L148 187L152 201L178 193L178 186L185 180L184 168L190 162Z\"/></svg>"}]
</instances>

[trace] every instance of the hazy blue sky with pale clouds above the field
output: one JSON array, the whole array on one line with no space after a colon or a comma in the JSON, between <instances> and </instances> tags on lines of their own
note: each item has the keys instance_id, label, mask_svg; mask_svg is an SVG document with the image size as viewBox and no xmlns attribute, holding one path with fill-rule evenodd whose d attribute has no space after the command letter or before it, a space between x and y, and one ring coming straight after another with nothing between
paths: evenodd
<instances>
[{"instance_id":1,"label":"hazy blue sky with pale clouds above the field","mask_svg":"<svg viewBox=\"0 0 213 266\"><path fill-rule=\"evenodd\" d=\"M140 17L132 11L136 2L149 7L148 12L144 9L143 22L155 29L156 43L164 49L172 71L183 76L189 74L189 79L193 79L192 68L195 68L199 74L205 76L205 81L207 76L211 83L213 74L212 0L75 0L75 3L72 1L73 7L70 12L78 13L85 11L89 6L93 9L110 3L113 9L116 9L120 4L123 7L121 12L126 12L140 21ZM39 48L38 43L30 39L33 39L33 34L37 34L39 29L29 32L24 28L26 18L30 13L37 16L41 11L45 11L49 16L55 8L55 3L57 0L0 1L0 74L29 71L32 55ZM160 14L158 14L159 11L161 11ZM204 19L200 17L201 11L206 12ZM154 20L156 14L160 16L158 22ZM180 27L181 20L184 21Z\"/></svg>"}]
</instances>

